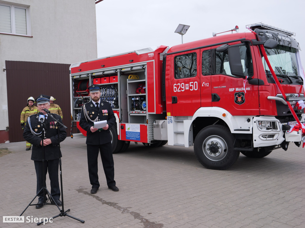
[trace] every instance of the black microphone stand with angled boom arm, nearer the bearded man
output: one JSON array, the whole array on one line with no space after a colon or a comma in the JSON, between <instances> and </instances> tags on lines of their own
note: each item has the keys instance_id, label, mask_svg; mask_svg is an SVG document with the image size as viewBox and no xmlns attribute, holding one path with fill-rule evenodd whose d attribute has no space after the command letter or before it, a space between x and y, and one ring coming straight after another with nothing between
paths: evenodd
<instances>
[{"instance_id":1,"label":"black microphone stand with angled boom arm, nearer the bearded man","mask_svg":"<svg viewBox=\"0 0 305 228\"><path fill-rule=\"evenodd\" d=\"M50 111L48 111L48 110L44 110L45 112L47 112L48 113L48 117L51 117L52 119L54 119L58 124L60 124L61 126L63 126L65 129L67 129L67 127L65 126L65 125L63 125L62 123L60 123L59 122L59 119L55 119L53 116L52 116L52 113L50 113ZM59 127L57 128L57 136L58 136L58 153L59 153L59 151L60 151L60 141L59 141ZM52 217L52 219L54 219L54 218L57 218L57 217L59 217L59 216L68 216L68 217L70 217L70 218L72 218L72 219L76 219L76 220L78 220L78 221L80 221L81 223L84 223L85 221L84 220L81 220L81 219L77 219L77 218L75 218L75 217L73 217L73 216L71 216L71 215L68 215L66 212L67 211L70 211L70 209L68 209L68 210L64 210L64 207L63 207L63 177L62 177L62 169L61 169L61 158L59 157L59 173L60 173L60 186L61 186L61 201L62 201L62 210L60 210L60 208L58 207L58 205L57 205L57 203L55 202L55 200L53 200L53 202L56 204L56 206L58 207L58 209L59 209L59 211L60 211L60 213L58 214L58 215L56 215L56 216L54 216L54 217ZM37 194L38 195L38 194ZM37 196L36 195L36 196ZM51 196L52 197L52 196ZM53 198L52 198L53 199ZM33 199L34 200L34 199ZM43 222L40 222L40 223L37 223L37 226L38 225L40 225L41 223L43 223Z\"/></svg>"}]
</instances>

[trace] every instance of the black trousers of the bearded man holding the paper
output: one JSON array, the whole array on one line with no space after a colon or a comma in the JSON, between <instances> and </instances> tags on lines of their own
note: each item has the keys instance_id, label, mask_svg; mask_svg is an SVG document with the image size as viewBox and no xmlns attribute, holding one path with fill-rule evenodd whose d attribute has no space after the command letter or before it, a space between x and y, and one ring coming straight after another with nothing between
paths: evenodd
<instances>
[{"instance_id":1,"label":"black trousers of the bearded man holding the paper","mask_svg":"<svg viewBox=\"0 0 305 228\"><path fill-rule=\"evenodd\" d=\"M106 176L107 185L113 186L116 183L114 181L114 162L110 142L101 145L87 144L87 159L90 184L92 185L92 188L99 188L100 186L97 161L99 151L101 153L102 164Z\"/></svg>"}]
</instances>

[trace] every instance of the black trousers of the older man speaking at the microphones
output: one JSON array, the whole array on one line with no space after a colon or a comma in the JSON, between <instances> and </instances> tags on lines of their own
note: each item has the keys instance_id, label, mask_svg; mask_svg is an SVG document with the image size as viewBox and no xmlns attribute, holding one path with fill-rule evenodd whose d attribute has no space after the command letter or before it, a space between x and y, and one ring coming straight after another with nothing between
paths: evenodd
<instances>
[{"instance_id":1,"label":"black trousers of the older man speaking at the microphones","mask_svg":"<svg viewBox=\"0 0 305 228\"><path fill-rule=\"evenodd\" d=\"M43 173L42 173L42 161L34 161L36 177L37 177L37 189L36 194L43 187ZM48 160L45 161L45 178L47 176L47 172L49 173L50 185L51 185L51 196L54 200L59 199L60 197L60 188L58 181L58 167L59 167L59 159ZM45 192L46 194L46 192ZM43 190L38 194L38 200L43 201Z\"/></svg>"}]
</instances>

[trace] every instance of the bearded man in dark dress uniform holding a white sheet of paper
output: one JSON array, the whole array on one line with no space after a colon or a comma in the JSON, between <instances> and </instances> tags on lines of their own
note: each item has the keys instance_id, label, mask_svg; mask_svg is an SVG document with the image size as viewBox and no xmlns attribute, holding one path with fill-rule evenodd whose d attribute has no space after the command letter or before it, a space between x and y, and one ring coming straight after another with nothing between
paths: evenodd
<instances>
[{"instance_id":1,"label":"bearded man in dark dress uniform holding a white sheet of paper","mask_svg":"<svg viewBox=\"0 0 305 228\"><path fill-rule=\"evenodd\" d=\"M119 191L114 181L114 163L111 147L110 130L115 123L111 105L101 101L101 87L91 85L89 88L91 101L83 105L79 125L87 131L87 158L89 180L92 185L91 194L95 194L99 189L98 161L99 151L101 153L102 164L106 175L108 188ZM102 129L94 128L94 122L106 120L107 124Z\"/></svg>"}]
</instances>

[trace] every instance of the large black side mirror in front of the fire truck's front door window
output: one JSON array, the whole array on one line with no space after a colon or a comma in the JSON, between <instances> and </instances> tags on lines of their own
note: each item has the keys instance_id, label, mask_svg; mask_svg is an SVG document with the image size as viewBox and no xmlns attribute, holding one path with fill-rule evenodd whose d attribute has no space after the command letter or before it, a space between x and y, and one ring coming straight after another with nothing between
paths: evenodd
<instances>
[{"instance_id":1,"label":"large black side mirror in front of the fire truck's front door window","mask_svg":"<svg viewBox=\"0 0 305 228\"><path fill-rule=\"evenodd\" d=\"M239 78L246 78L242 69L239 47L228 47L228 56L231 74Z\"/></svg>"}]
</instances>

